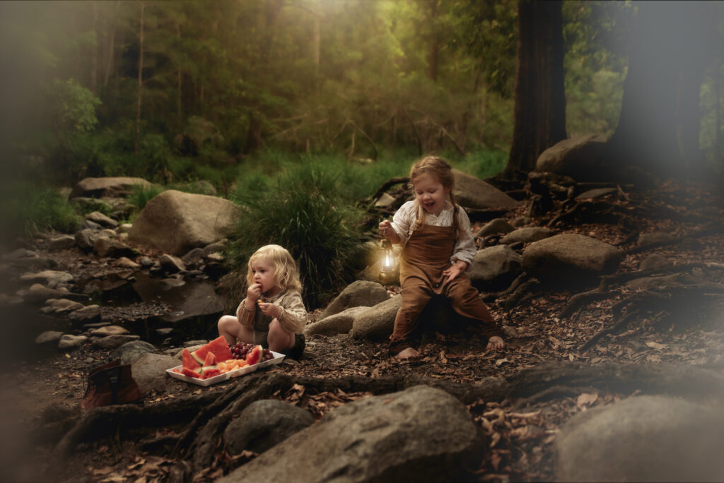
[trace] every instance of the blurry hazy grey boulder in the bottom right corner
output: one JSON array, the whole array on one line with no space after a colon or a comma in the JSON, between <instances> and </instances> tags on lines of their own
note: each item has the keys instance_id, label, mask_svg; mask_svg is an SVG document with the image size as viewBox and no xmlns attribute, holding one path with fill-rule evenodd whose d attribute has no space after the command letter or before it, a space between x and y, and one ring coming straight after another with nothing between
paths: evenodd
<instances>
[{"instance_id":1,"label":"blurry hazy grey boulder in the bottom right corner","mask_svg":"<svg viewBox=\"0 0 724 483\"><path fill-rule=\"evenodd\" d=\"M555 440L557 482L724 481L724 411L639 396L579 413Z\"/></svg>"}]
</instances>

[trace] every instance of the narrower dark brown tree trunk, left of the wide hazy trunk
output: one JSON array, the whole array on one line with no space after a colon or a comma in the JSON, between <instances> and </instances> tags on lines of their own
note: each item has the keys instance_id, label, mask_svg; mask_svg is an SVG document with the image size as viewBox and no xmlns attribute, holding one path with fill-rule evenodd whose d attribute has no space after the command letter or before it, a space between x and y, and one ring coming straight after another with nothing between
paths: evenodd
<instances>
[{"instance_id":1,"label":"narrower dark brown tree trunk, left of the wide hazy trunk","mask_svg":"<svg viewBox=\"0 0 724 483\"><path fill-rule=\"evenodd\" d=\"M513 145L502 176L533 171L540 153L565 139L561 2L518 3Z\"/></svg>"}]
</instances>

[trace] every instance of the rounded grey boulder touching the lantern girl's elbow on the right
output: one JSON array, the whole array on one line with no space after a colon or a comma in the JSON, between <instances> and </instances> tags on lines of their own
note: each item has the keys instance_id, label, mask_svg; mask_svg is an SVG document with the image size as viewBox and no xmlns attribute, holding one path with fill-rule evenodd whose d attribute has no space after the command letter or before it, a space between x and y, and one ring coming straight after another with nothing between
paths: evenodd
<instances>
[{"instance_id":1,"label":"rounded grey boulder touching the lantern girl's elbow on the right","mask_svg":"<svg viewBox=\"0 0 724 483\"><path fill-rule=\"evenodd\" d=\"M500 291L522 271L521 255L508 245L496 245L478 250L467 274L479 290Z\"/></svg>"}]
</instances>

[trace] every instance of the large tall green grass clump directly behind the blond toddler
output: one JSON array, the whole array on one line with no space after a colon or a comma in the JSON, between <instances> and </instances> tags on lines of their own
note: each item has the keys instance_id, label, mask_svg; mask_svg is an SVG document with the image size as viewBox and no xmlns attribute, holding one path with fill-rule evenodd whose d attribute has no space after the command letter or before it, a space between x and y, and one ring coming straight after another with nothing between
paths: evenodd
<instances>
[{"instance_id":1,"label":"large tall green grass clump directly behind the blond toddler","mask_svg":"<svg viewBox=\"0 0 724 483\"><path fill-rule=\"evenodd\" d=\"M239 193L237 201L245 211L232 245L237 270L245 272L248 257L263 245L285 247L298 263L309 307L353 280L361 215L344 201L329 171L301 164L280 175L271 189Z\"/></svg>"}]
</instances>

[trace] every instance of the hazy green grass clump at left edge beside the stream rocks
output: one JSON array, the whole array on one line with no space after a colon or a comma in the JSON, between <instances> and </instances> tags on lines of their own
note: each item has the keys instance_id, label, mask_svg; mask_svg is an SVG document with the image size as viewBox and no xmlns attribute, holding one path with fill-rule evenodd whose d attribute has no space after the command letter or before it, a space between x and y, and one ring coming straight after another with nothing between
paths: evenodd
<instances>
[{"instance_id":1,"label":"hazy green grass clump at left edge beside the stream rocks","mask_svg":"<svg viewBox=\"0 0 724 483\"><path fill-rule=\"evenodd\" d=\"M72 205L56 189L28 182L6 187L0 219L5 223L3 236L7 239L28 236L35 231L72 233L81 221Z\"/></svg>"}]
</instances>

